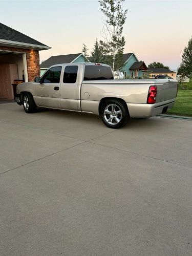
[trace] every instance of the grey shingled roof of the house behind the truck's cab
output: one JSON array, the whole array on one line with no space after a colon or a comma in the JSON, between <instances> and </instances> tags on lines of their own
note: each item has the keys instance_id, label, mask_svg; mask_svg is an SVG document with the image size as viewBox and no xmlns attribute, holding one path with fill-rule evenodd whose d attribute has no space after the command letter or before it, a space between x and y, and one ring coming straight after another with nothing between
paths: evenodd
<instances>
[{"instance_id":1,"label":"grey shingled roof of the house behind the truck's cab","mask_svg":"<svg viewBox=\"0 0 192 256\"><path fill-rule=\"evenodd\" d=\"M82 53L51 56L49 59L41 63L40 68L49 68L61 63L71 63L81 55Z\"/></svg>"}]
</instances>

